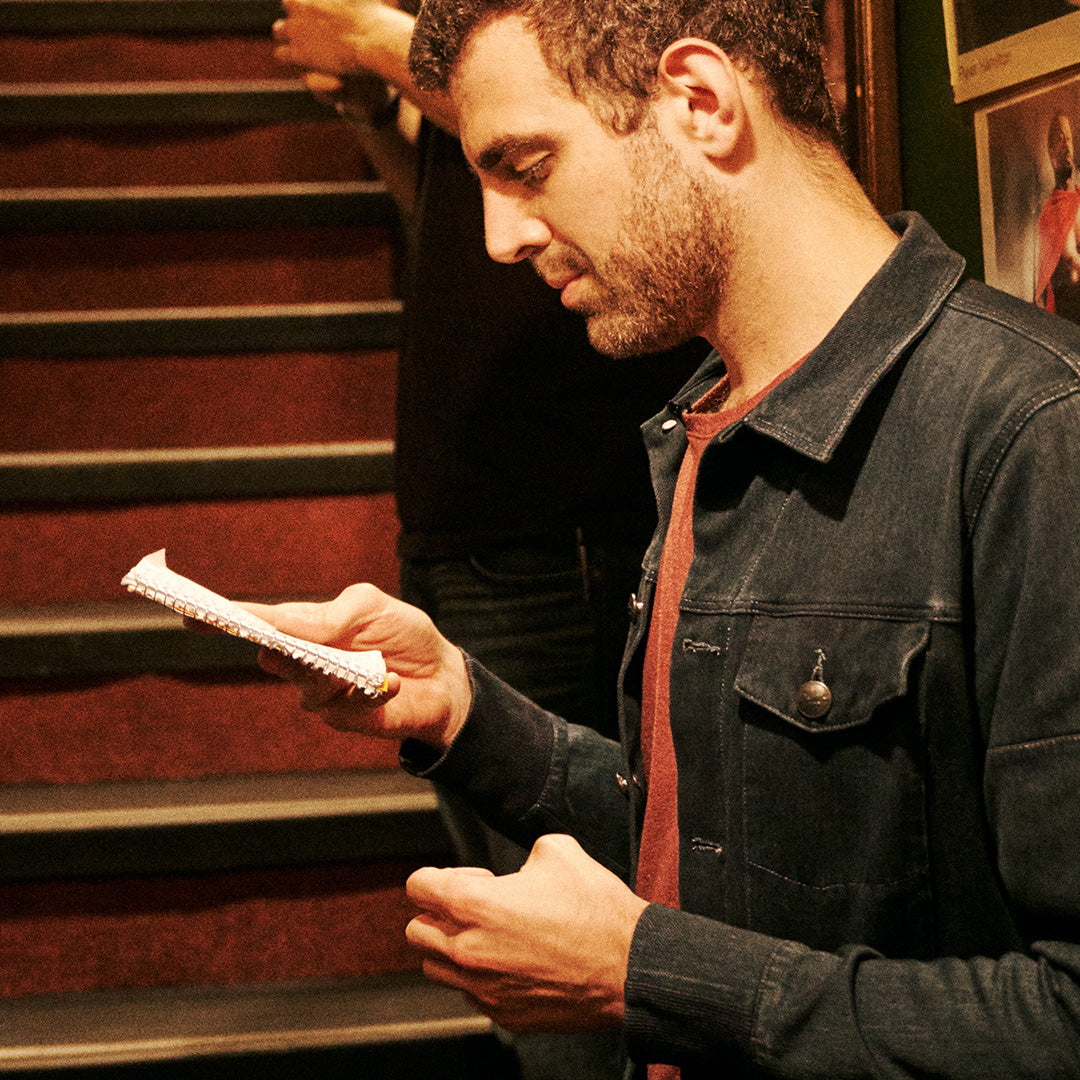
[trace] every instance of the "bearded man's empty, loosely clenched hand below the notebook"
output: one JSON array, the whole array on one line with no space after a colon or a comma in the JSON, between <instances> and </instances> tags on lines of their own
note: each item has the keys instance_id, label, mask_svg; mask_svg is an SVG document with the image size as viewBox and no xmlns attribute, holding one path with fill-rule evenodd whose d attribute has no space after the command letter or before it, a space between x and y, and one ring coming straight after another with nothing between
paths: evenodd
<instances>
[{"instance_id":1,"label":"bearded man's empty, loosely clenched hand below the notebook","mask_svg":"<svg viewBox=\"0 0 1080 1080\"><path fill-rule=\"evenodd\" d=\"M542 836L516 874L426 868L406 936L429 978L463 990L510 1031L616 1027L647 904L569 836Z\"/></svg>"}]
</instances>

